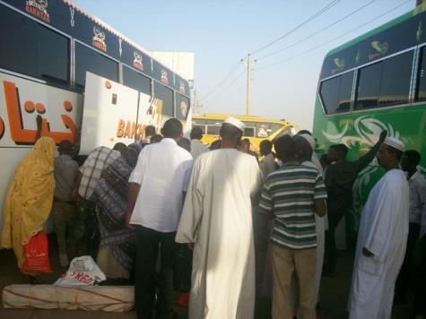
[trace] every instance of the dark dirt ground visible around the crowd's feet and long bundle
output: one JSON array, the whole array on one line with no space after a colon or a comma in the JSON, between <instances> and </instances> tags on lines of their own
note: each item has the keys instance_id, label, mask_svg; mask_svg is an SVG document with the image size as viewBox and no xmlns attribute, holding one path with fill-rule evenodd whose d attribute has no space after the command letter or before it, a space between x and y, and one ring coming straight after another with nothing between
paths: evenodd
<instances>
[{"instance_id":1,"label":"dark dirt ground visible around the crowd's feet and long bundle","mask_svg":"<svg viewBox=\"0 0 426 319\"><path fill-rule=\"evenodd\" d=\"M52 242L52 240L50 240ZM53 283L57 280L61 272L65 269L59 266L57 260L57 253L55 245L52 245L51 249L51 266L52 273L43 274L41 279L44 283ZM321 304L317 310L318 319L344 319L347 318L346 303L349 294L350 281L352 276L352 258L342 254L338 261L338 270L335 278L323 277L320 296ZM19 272L16 259L11 250L0 250L0 289L4 289L5 286L17 283L25 283L24 278ZM270 315L270 300L265 297L256 297L256 319L269 319ZM187 308L178 307L176 308L179 318L187 318ZM393 319L409 318L408 306L398 306L394 308ZM0 306L0 318L1 319L135 319L136 315L134 311L126 313L105 313L97 311L66 311L66 310L42 310L42 309L4 309ZM223 318L226 319L226 318Z\"/></svg>"}]
</instances>

